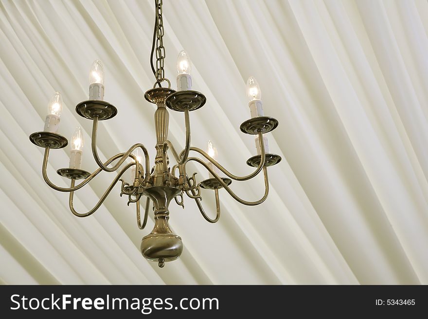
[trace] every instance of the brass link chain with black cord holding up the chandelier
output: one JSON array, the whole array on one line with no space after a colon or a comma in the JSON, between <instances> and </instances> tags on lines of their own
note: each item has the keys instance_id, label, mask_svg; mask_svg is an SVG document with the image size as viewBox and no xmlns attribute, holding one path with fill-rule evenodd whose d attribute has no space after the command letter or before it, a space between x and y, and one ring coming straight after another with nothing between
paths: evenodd
<instances>
[{"instance_id":1,"label":"brass link chain with black cord holding up the chandelier","mask_svg":"<svg viewBox=\"0 0 428 319\"><path fill-rule=\"evenodd\" d=\"M156 51L156 71L153 68L156 77L156 84L159 84L161 87L161 82L168 82L168 87L171 86L168 79L165 78L164 70L164 60L165 60L165 47L163 46L163 18L162 18L162 0L155 0L156 5L156 22L155 22L155 32L153 34L153 48L152 51ZM156 49L154 48L156 38Z\"/></svg>"}]
</instances>

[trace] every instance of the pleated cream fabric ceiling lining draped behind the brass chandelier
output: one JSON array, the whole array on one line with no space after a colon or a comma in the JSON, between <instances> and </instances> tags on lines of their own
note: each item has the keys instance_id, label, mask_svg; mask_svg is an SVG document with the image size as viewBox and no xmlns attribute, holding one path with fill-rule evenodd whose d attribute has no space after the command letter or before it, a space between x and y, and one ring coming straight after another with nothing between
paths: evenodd
<instances>
[{"instance_id":1,"label":"pleated cream fabric ceiling lining draped behind the brass chandelier","mask_svg":"<svg viewBox=\"0 0 428 319\"><path fill-rule=\"evenodd\" d=\"M118 115L99 125L102 159L134 143L154 159L153 114L143 94L155 82L149 56L153 0L0 3L0 283L3 284L428 284L428 2L378 0L164 0L165 73L187 50L194 89L206 105L190 113L192 145L211 139L234 174L251 172L254 137L245 92L253 75L267 134L283 161L268 169L270 194L243 206L220 190L222 215L209 224L193 200L171 203L184 251L159 269L140 253L135 206L117 185L88 218L41 175L43 129L55 90L58 133L84 131L82 168L93 171L87 100L92 61L105 66L105 100ZM184 147L184 116L170 111L169 139ZM48 174L68 167L70 147L51 151ZM197 164L196 178L208 174ZM76 192L88 211L115 173ZM246 200L263 178L234 182ZM204 190L214 216L214 192ZM143 207L142 207L143 209Z\"/></svg>"}]
</instances>

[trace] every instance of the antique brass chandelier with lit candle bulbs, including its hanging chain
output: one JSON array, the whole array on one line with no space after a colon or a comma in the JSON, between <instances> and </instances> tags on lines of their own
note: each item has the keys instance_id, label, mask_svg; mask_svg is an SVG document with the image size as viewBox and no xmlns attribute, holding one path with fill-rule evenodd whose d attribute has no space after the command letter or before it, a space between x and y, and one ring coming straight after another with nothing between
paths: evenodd
<instances>
[{"instance_id":1,"label":"antique brass chandelier with lit candle bulbs, including its hanging chain","mask_svg":"<svg viewBox=\"0 0 428 319\"><path fill-rule=\"evenodd\" d=\"M104 69L100 60L94 61L89 72L89 100L80 102L76 106L78 115L92 120L91 149L99 168L92 173L81 169L83 134L80 127L78 127L71 137L70 165L68 168L57 170L59 175L71 180L70 187L59 187L50 181L46 170L49 152L52 149L64 148L68 144L65 137L56 133L62 110L62 98L59 92L55 92L54 97L49 103L49 114L46 116L43 132L31 134L30 140L37 146L45 149L42 165L43 179L55 190L70 193L69 206L75 216L87 217L92 215L101 206L118 182L122 183L120 196L128 196L128 205L136 203L137 224L140 229L145 227L148 214L150 211L153 211L155 226L150 234L143 237L141 241L141 253L146 259L157 261L159 267L163 267L165 262L177 259L183 249L181 237L174 234L168 224L168 207L173 199L178 205L184 208L184 194L186 194L189 198L196 201L196 205L203 218L210 223L215 223L220 218L218 190L224 188L233 199L244 205L258 205L262 203L266 200L269 192L267 167L279 163L281 157L268 152L267 138L263 134L275 129L278 126L278 121L275 118L264 116L263 105L260 100L260 88L253 77L250 77L247 81L247 95L249 97L251 118L243 122L240 129L243 133L256 135L257 155L247 160L247 165L254 167L255 170L247 176L233 175L215 160L216 150L211 141L208 142L208 152L191 146L189 112L201 108L205 104L206 98L202 93L192 90L192 78L190 76L192 65L188 54L184 50L178 54L177 91L171 88L170 81L165 78L163 68L165 48L162 42L164 34L162 0L155 0L155 8L156 19L150 63L156 82L153 88L144 94L144 98L147 101L157 105L157 110L155 111L156 157L154 166L151 167L149 154L143 144L134 144L126 152L116 154L104 163L98 156L96 146L98 122L113 118L117 114L116 107L104 101ZM156 62L154 63L155 59ZM167 83L168 87L162 87L162 83ZM168 109L184 112L185 147L179 152L167 139ZM172 153L177 163L172 168L169 165L168 151ZM189 156L191 151L199 153L205 160ZM187 172L187 164L192 161L206 168L210 178L197 183L196 172L191 174ZM121 178L128 169L132 175L130 183L126 183ZM262 170L264 174L265 194L260 200L244 201L229 187L232 180L247 181L258 175ZM118 171L118 173L96 205L89 212L78 213L73 206L74 192L87 185L101 171ZM76 185L77 180L83 181ZM201 188L214 190L216 203L215 218L210 218L201 205ZM142 196L146 197L143 220L140 214ZM151 205L151 201L153 205Z\"/></svg>"}]
</instances>

